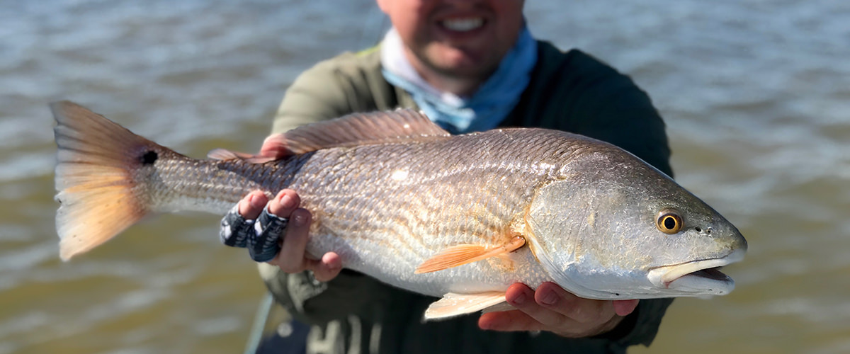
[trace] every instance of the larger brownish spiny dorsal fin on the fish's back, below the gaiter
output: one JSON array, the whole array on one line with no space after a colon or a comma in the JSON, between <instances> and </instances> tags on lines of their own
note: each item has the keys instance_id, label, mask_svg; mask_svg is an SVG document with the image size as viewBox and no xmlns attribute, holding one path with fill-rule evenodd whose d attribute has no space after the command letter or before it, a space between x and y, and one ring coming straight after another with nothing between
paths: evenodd
<instances>
[{"instance_id":1,"label":"larger brownish spiny dorsal fin on the fish's back, below the gaiter","mask_svg":"<svg viewBox=\"0 0 850 354\"><path fill-rule=\"evenodd\" d=\"M299 126L283 134L292 154L319 149L376 143L422 141L449 137L450 133L415 110L393 110L343 115L331 121ZM267 142L268 143L268 142Z\"/></svg>"}]
</instances>

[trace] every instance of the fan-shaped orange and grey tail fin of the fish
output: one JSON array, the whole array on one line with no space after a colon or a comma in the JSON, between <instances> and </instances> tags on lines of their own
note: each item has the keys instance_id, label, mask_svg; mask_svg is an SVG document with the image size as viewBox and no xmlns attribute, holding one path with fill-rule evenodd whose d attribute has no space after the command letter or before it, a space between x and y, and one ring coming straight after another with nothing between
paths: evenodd
<instances>
[{"instance_id":1,"label":"fan-shaped orange and grey tail fin of the fish","mask_svg":"<svg viewBox=\"0 0 850 354\"><path fill-rule=\"evenodd\" d=\"M134 172L160 145L69 101L50 104L57 126L56 231L67 261L138 222L148 211L134 193Z\"/></svg>"}]
</instances>

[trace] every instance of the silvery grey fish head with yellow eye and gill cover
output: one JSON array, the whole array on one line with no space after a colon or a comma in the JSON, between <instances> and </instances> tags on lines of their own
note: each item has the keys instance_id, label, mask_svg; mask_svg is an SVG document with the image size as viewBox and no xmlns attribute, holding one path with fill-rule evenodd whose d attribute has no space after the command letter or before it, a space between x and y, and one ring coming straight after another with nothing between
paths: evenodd
<instances>
[{"instance_id":1,"label":"silvery grey fish head with yellow eye and gill cover","mask_svg":"<svg viewBox=\"0 0 850 354\"><path fill-rule=\"evenodd\" d=\"M643 160L603 148L571 159L530 205L530 247L556 283L596 299L734 289L718 268L743 258L738 229Z\"/></svg>"}]
</instances>

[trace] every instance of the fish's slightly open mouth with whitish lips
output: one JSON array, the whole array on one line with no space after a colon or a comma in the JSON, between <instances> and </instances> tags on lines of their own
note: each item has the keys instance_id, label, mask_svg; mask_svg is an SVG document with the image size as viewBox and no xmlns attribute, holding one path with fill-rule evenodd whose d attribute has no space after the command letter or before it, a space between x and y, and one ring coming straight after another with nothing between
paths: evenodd
<instances>
[{"instance_id":1,"label":"fish's slightly open mouth with whitish lips","mask_svg":"<svg viewBox=\"0 0 850 354\"><path fill-rule=\"evenodd\" d=\"M665 289L694 295L724 295L734 289L734 280L720 272L723 266L744 259L744 250L734 250L721 258L689 261L649 270L649 281Z\"/></svg>"}]
</instances>

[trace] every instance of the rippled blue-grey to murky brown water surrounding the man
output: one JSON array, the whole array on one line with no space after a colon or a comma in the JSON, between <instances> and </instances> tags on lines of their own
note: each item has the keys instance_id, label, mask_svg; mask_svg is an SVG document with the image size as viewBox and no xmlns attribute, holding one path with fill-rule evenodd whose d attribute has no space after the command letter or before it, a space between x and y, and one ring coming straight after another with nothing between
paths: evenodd
<instances>
[{"instance_id":1,"label":"rippled blue-grey to murky brown water surrounding the man","mask_svg":"<svg viewBox=\"0 0 850 354\"><path fill-rule=\"evenodd\" d=\"M286 87L381 36L366 0L0 1L0 354L235 352L263 286L215 216L58 258L46 104L202 156L255 151ZM733 294L677 300L643 352L850 352L850 3L545 2L530 27L632 76L677 180L750 241Z\"/></svg>"}]
</instances>

